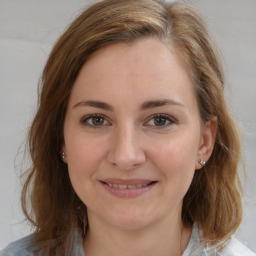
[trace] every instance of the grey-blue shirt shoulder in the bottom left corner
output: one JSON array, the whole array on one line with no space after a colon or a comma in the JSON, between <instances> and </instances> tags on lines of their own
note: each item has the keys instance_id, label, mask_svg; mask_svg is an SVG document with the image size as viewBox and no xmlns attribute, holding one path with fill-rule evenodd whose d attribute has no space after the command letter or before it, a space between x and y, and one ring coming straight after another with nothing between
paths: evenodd
<instances>
[{"instance_id":1,"label":"grey-blue shirt shoulder in the bottom left corner","mask_svg":"<svg viewBox=\"0 0 256 256\"><path fill-rule=\"evenodd\" d=\"M32 241L33 234L14 241L0 251L0 256L34 256L35 254L29 251Z\"/></svg>"}]
</instances>

